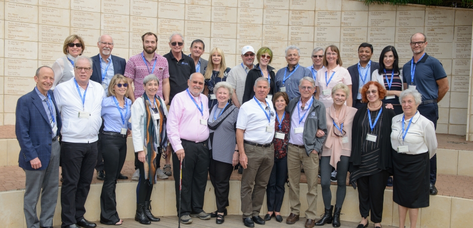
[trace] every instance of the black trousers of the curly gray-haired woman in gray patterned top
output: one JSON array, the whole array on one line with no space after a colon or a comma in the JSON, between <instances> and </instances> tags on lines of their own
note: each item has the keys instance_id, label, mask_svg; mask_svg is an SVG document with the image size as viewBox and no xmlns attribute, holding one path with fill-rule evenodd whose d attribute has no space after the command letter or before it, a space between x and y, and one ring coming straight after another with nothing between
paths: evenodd
<instances>
[{"instance_id":1,"label":"black trousers of the curly gray-haired woman in gray patterned top","mask_svg":"<svg viewBox=\"0 0 473 228\"><path fill-rule=\"evenodd\" d=\"M217 211L220 213L224 213L225 208L229 206L228 195L230 192L230 176L232 172L232 164L216 161L213 158L210 159L210 182L212 182L214 186Z\"/></svg>"}]
</instances>

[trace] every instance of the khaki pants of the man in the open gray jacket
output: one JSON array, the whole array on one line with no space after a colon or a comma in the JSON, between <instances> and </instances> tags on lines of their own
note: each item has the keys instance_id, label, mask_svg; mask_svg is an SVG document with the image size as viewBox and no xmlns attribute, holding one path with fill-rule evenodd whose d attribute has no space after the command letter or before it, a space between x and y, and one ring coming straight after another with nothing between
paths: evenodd
<instances>
[{"instance_id":1,"label":"khaki pants of the man in the open gray jacket","mask_svg":"<svg viewBox=\"0 0 473 228\"><path fill-rule=\"evenodd\" d=\"M307 177L307 204L306 218L315 220L317 209L317 172L318 154L307 156L306 149L288 145L287 167L289 175L289 205L291 213L299 215L301 202L299 200L299 182L301 181L301 164Z\"/></svg>"}]
</instances>

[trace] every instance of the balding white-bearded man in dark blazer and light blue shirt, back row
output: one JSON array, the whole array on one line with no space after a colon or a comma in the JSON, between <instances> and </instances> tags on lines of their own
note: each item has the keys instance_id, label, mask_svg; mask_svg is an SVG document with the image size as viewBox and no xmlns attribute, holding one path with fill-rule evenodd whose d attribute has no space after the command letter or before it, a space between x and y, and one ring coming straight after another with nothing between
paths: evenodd
<instances>
[{"instance_id":1,"label":"balding white-bearded man in dark blazer and light blue shirt, back row","mask_svg":"<svg viewBox=\"0 0 473 228\"><path fill-rule=\"evenodd\" d=\"M125 73L126 60L118 56L112 56L113 38L109 35L101 35L98 38L97 47L99 50L99 54L92 57L93 66L92 76L90 76L90 80L102 84L105 93L107 93L108 84L110 83L110 79L112 79L113 75L123 75ZM103 131L103 127L104 125L102 121L102 126L100 127L98 133L97 164L95 165L95 170L97 171L97 179L99 180L105 179L105 172L103 171L102 147L100 143L100 139L102 137L102 134L100 132ZM128 179L128 177L120 173L118 179Z\"/></svg>"}]
</instances>

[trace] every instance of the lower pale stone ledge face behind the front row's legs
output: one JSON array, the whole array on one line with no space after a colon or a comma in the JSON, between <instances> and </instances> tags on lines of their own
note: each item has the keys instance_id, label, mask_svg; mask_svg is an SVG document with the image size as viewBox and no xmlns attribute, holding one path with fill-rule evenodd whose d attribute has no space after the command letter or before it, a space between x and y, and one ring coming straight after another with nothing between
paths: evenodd
<instances>
[{"instance_id":1,"label":"lower pale stone ledge face behind the front row's legs","mask_svg":"<svg viewBox=\"0 0 473 228\"><path fill-rule=\"evenodd\" d=\"M117 204L118 214L120 218L134 218L136 209L136 182L121 182L117 184ZM301 217L307 210L307 184L301 183ZM91 221L100 219L100 193L102 184L93 184L85 203L87 212L85 218ZM332 204L335 203L336 185L331 185ZM61 191L59 191L61 192ZM288 187L284 195L281 214L288 216L290 206L288 202ZM323 214L323 201L321 195L321 187L317 187L317 214ZM230 206L227 208L229 214L241 215L240 211L240 181L230 181ZM5 227L21 228L25 227L23 214L23 194L24 190L0 192L0 224ZM398 226L397 204L392 200L393 191L386 190L384 198L383 222L385 226ZM174 191L174 181L159 181L154 189L151 197L153 214L156 216L175 216L176 198ZM38 203L38 214L40 214L40 203ZM213 212L216 210L214 189L210 181L207 181L205 191L204 210ZM266 197L261 209L261 215L267 212ZM347 186L347 194L342 208L342 221L359 222L360 214L358 209L358 191L351 186ZM419 210L419 218L417 227L428 228L458 228L469 227L473 224L473 200L456 198L450 196L431 196L430 207ZM61 225L61 205L60 195L58 196L58 204L54 216L54 226ZM407 215L406 227L409 226L409 218Z\"/></svg>"}]
</instances>

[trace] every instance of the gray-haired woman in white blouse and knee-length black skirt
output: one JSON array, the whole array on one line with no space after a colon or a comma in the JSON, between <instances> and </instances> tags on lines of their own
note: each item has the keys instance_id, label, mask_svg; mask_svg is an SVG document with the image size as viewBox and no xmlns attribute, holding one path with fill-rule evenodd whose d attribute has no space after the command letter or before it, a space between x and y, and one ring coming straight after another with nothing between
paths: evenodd
<instances>
[{"instance_id":1,"label":"gray-haired woman in white blouse and knee-length black skirt","mask_svg":"<svg viewBox=\"0 0 473 228\"><path fill-rule=\"evenodd\" d=\"M429 206L430 158L437 151L434 123L417 112L422 96L415 89L400 93L403 114L393 117L393 201L398 204L399 227L404 227L409 211L410 227L415 228L419 208Z\"/></svg>"}]
</instances>

